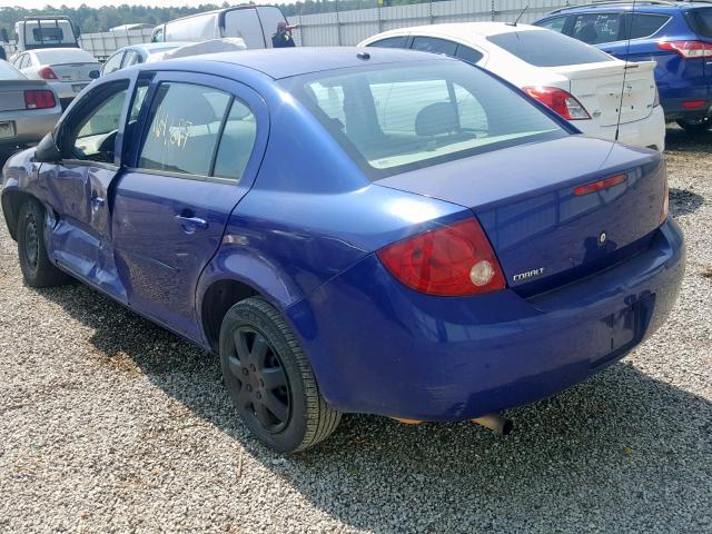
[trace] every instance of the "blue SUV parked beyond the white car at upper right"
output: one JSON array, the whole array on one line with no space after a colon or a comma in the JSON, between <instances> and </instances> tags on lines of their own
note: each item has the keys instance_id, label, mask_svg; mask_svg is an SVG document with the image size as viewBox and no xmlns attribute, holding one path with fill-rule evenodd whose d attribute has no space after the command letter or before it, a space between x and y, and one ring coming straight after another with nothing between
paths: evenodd
<instances>
[{"instance_id":1,"label":"blue SUV parked beyond the white car at upper right","mask_svg":"<svg viewBox=\"0 0 712 534\"><path fill-rule=\"evenodd\" d=\"M666 120L693 134L712 126L712 3L597 2L558 9L534 23L620 59L656 61Z\"/></svg>"}]
</instances>

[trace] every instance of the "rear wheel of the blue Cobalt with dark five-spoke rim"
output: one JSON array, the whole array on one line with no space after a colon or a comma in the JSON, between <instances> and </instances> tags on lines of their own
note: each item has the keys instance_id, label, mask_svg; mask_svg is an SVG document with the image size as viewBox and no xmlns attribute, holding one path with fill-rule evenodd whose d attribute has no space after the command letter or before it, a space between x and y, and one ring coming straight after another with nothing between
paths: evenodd
<instances>
[{"instance_id":1,"label":"rear wheel of the blue Cobalt with dark five-spoke rim","mask_svg":"<svg viewBox=\"0 0 712 534\"><path fill-rule=\"evenodd\" d=\"M338 426L342 414L319 393L291 328L261 298L248 298L228 310L219 353L237 412L268 447L279 453L304 451Z\"/></svg>"}]
</instances>

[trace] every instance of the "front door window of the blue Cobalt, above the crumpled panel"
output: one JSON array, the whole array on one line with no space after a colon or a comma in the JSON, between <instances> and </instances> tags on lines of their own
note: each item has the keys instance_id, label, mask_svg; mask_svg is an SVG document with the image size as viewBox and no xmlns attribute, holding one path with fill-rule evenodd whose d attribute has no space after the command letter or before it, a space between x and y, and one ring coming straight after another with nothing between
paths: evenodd
<instances>
[{"instance_id":1,"label":"front door window of the blue Cobalt, above the crumpled panel","mask_svg":"<svg viewBox=\"0 0 712 534\"><path fill-rule=\"evenodd\" d=\"M113 164L116 135L121 122L129 81L98 88L82 99L67 119L62 141L66 159Z\"/></svg>"}]
</instances>

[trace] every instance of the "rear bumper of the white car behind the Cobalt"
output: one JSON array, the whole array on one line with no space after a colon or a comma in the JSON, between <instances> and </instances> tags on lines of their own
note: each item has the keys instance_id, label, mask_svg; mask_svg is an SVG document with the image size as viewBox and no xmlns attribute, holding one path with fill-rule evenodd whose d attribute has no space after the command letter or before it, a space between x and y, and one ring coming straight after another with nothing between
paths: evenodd
<instances>
[{"instance_id":1,"label":"rear bumper of the white car behind the Cobalt","mask_svg":"<svg viewBox=\"0 0 712 534\"><path fill-rule=\"evenodd\" d=\"M616 140L615 125L600 126L594 120L577 120L573 125L589 137L609 141ZM656 106L645 119L622 123L619 128L617 140L635 147L655 148L662 152L665 149L665 113L663 108Z\"/></svg>"}]
</instances>

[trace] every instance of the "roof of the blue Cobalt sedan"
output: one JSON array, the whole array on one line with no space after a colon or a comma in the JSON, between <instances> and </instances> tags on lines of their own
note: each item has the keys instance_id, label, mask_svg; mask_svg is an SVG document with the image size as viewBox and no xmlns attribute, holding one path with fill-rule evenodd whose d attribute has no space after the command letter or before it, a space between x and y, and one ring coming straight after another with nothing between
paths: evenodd
<instances>
[{"instance_id":1,"label":"roof of the blue Cobalt sedan","mask_svg":"<svg viewBox=\"0 0 712 534\"><path fill-rule=\"evenodd\" d=\"M445 56L416 52L403 49L359 47L330 47L330 48L283 48L241 50L234 52L209 53L185 60L171 60L166 65L176 65L181 61L182 67L200 70L202 61L231 63L247 67L263 72L270 78L280 79L310 72L322 72L348 67L364 67L368 65L384 65L407 61L456 61ZM160 63L145 63L150 69Z\"/></svg>"}]
</instances>

